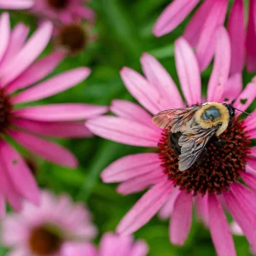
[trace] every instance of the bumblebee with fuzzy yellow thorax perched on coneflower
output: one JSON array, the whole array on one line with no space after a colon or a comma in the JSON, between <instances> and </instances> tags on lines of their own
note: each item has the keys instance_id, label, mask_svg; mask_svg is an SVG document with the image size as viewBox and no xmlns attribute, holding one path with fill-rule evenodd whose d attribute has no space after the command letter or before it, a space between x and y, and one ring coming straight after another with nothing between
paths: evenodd
<instances>
[{"instance_id":1,"label":"bumblebee with fuzzy yellow thorax perched on coneflower","mask_svg":"<svg viewBox=\"0 0 256 256\"><path fill-rule=\"evenodd\" d=\"M178 169L185 171L200 159L211 137L219 137L232 125L235 110L230 104L207 102L162 111L154 115L152 122L170 131L170 143L179 154Z\"/></svg>"}]
</instances>

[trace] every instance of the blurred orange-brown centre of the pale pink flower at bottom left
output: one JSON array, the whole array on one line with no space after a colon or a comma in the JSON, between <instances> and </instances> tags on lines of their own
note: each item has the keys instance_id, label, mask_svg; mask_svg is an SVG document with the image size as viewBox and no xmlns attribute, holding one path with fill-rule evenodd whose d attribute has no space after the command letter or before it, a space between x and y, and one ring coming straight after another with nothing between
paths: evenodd
<instances>
[{"instance_id":1,"label":"blurred orange-brown centre of the pale pink flower at bottom left","mask_svg":"<svg viewBox=\"0 0 256 256\"><path fill-rule=\"evenodd\" d=\"M52 255L58 253L62 239L47 226L38 226L31 231L29 247L36 255Z\"/></svg>"}]
</instances>

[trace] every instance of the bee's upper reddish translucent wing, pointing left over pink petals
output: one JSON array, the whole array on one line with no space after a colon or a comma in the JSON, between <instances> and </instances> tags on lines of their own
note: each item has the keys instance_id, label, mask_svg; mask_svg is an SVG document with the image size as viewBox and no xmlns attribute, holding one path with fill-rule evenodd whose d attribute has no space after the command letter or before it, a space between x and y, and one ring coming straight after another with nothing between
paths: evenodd
<instances>
[{"instance_id":1,"label":"bee's upper reddish translucent wing, pointing left over pink petals","mask_svg":"<svg viewBox=\"0 0 256 256\"><path fill-rule=\"evenodd\" d=\"M200 106L195 105L190 108L164 110L155 114L152 122L162 129L172 127L172 132L185 131L199 108Z\"/></svg>"}]
</instances>

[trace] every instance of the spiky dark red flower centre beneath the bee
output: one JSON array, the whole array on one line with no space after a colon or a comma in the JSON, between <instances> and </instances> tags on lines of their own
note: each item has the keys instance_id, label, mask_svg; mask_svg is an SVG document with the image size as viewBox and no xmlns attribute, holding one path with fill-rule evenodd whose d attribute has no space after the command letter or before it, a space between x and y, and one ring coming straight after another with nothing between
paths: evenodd
<instances>
[{"instance_id":1,"label":"spiky dark red flower centre beneath the bee","mask_svg":"<svg viewBox=\"0 0 256 256\"><path fill-rule=\"evenodd\" d=\"M178 154L172 147L170 131L163 132L159 154L164 172L179 189L193 195L221 194L240 179L240 172L245 172L250 143L243 123L234 119L220 137L211 138L201 159L186 171L178 170Z\"/></svg>"}]
</instances>

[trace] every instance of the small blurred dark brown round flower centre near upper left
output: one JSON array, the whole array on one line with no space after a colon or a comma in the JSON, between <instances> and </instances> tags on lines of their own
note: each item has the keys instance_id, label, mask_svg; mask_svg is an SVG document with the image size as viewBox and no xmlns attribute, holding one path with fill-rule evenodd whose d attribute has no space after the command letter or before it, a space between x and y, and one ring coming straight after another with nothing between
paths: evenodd
<instances>
[{"instance_id":1,"label":"small blurred dark brown round flower centre near upper left","mask_svg":"<svg viewBox=\"0 0 256 256\"><path fill-rule=\"evenodd\" d=\"M63 26L59 33L59 44L70 53L76 53L84 49L88 42L87 34L83 27L71 24Z\"/></svg>"}]
</instances>

